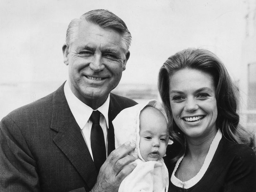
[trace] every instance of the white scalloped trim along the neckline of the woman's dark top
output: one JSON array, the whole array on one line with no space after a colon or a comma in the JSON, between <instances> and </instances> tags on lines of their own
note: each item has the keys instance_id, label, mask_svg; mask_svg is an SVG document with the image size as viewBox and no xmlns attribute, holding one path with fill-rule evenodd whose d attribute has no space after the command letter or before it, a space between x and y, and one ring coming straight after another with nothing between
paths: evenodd
<instances>
[{"instance_id":1,"label":"white scalloped trim along the neckline of the woman's dark top","mask_svg":"<svg viewBox=\"0 0 256 192\"><path fill-rule=\"evenodd\" d=\"M201 167L201 169L199 170L199 172L196 174L196 176L194 176L193 178L191 178L190 180L187 181L181 181L179 180L177 177L175 177L175 172L177 171L180 162L182 161L184 155L182 157L180 157L180 159L177 161L174 170L172 172L172 176L171 176L171 182L173 183L173 185L180 187L180 188L184 188L184 189L188 189L193 187L194 185L196 185L196 183L198 183L202 177L204 176L204 173L206 172L206 170L208 169L210 163L212 162L212 158L218 148L218 145L220 143L220 140L222 138L222 133L220 132L220 129L218 129L214 139L212 140L212 143L210 145L209 151L205 157L204 160L204 164Z\"/></svg>"}]
</instances>

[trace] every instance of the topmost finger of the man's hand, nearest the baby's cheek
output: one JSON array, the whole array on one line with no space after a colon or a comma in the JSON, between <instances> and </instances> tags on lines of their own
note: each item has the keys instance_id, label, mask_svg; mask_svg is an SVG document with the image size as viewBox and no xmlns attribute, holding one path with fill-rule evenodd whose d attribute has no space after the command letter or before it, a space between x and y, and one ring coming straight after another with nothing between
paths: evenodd
<instances>
[{"instance_id":1,"label":"topmost finger of the man's hand, nearest the baby's cheek","mask_svg":"<svg viewBox=\"0 0 256 192\"><path fill-rule=\"evenodd\" d=\"M135 143L125 142L119 148L113 150L107 158L107 162L115 165L116 162L135 149Z\"/></svg>"}]
</instances>

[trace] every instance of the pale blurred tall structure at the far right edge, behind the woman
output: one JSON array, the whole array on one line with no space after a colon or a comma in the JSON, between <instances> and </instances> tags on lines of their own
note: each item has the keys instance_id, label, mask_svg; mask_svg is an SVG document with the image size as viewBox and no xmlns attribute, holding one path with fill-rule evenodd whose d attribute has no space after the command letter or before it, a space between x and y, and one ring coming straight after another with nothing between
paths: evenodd
<instances>
[{"instance_id":1,"label":"pale blurred tall structure at the far right edge, behind the woman","mask_svg":"<svg viewBox=\"0 0 256 192\"><path fill-rule=\"evenodd\" d=\"M242 46L239 92L243 98L242 123L256 130L256 0L247 0L246 35Z\"/></svg>"}]
</instances>

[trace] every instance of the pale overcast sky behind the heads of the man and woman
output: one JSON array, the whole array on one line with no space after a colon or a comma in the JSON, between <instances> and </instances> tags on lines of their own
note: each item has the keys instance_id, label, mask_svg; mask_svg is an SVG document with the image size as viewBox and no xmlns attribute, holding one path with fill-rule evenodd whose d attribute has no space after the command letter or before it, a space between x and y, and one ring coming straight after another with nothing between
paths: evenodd
<instances>
[{"instance_id":1,"label":"pale overcast sky behind the heads of the man and woman","mask_svg":"<svg viewBox=\"0 0 256 192\"><path fill-rule=\"evenodd\" d=\"M211 50L239 78L243 0L1 0L0 82L63 82L68 23L92 9L115 13L132 34L121 83L156 84L163 62L187 47Z\"/></svg>"}]
</instances>

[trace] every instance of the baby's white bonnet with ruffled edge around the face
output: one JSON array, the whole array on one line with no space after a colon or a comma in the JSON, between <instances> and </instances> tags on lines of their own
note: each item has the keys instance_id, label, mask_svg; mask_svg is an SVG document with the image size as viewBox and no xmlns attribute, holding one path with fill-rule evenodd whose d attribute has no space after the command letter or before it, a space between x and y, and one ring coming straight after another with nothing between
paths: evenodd
<instances>
[{"instance_id":1,"label":"baby's white bonnet with ruffled edge around the face","mask_svg":"<svg viewBox=\"0 0 256 192\"><path fill-rule=\"evenodd\" d=\"M118 148L126 141L131 141L136 144L134 151L130 155L138 156L142 161L145 161L140 154L140 112L146 106L151 106L161 111L166 121L167 115L164 108L156 100L149 100L145 103L137 104L135 106L123 109L116 118L112 121L115 132L115 147ZM172 141L169 140L170 144Z\"/></svg>"}]
</instances>

